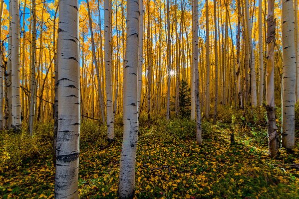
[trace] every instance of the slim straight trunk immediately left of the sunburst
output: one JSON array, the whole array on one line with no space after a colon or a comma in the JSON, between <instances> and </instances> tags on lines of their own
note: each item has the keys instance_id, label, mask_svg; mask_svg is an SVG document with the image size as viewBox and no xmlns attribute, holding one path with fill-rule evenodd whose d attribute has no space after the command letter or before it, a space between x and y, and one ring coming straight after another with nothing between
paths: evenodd
<instances>
[{"instance_id":1,"label":"slim straight trunk immediately left of the sunburst","mask_svg":"<svg viewBox=\"0 0 299 199\"><path fill-rule=\"evenodd\" d=\"M167 7L167 104L166 104L166 119L169 119L170 115L170 83L171 76L169 72L171 71L171 38L170 38L170 19L169 19L169 0L166 0Z\"/></svg>"}]
</instances>

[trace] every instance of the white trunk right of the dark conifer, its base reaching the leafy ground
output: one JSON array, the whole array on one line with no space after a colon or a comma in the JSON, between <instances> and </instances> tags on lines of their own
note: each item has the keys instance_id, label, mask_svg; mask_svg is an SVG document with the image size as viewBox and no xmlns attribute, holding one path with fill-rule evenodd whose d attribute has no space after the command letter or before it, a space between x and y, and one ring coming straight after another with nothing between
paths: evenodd
<instances>
[{"instance_id":1,"label":"white trunk right of the dark conifer, its base reaching the leafy ground","mask_svg":"<svg viewBox=\"0 0 299 199\"><path fill-rule=\"evenodd\" d=\"M207 1L206 1L207 2ZM193 67L194 67L194 96L195 96L195 107L196 107L196 142L202 144L202 129L201 129L201 112L200 112L200 101L199 101L199 72L198 72L198 0L192 1L193 7Z\"/></svg>"}]
</instances>

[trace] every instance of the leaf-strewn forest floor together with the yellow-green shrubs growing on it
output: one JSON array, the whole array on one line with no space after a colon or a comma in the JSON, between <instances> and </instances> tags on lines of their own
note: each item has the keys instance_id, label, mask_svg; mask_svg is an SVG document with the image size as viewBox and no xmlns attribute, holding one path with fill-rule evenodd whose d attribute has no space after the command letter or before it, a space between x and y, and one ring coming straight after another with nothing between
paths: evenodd
<instances>
[{"instance_id":1,"label":"leaf-strewn forest floor together with the yellow-green shrubs growing on it","mask_svg":"<svg viewBox=\"0 0 299 199\"><path fill-rule=\"evenodd\" d=\"M194 121L161 117L147 127L141 118L135 198L299 198L299 170L290 167L299 161L298 145L271 159L264 110L245 117L241 111L220 112L217 124L203 121L201 146ZM116 118L116 141L108 145L105 127L82 122L80 198L117 198L122 128ZM0 198L53 198L51 129L52 124L40 124L33 138L1 133ZM230 144L232 132L235 144Z\"/></svg>"}]
</instances>

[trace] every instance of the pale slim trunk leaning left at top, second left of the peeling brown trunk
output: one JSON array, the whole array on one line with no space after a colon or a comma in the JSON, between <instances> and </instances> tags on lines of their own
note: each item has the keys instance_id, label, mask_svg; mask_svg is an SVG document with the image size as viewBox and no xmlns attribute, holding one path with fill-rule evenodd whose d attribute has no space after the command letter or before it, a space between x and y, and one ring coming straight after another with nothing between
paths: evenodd
<instances>
[{"instance_id":1,"label":"pale slim trunk leaning left at top, second left of the peeling brown trunk","mask_svg":"<svg viewBox=\"0 0 299 199\"><path fill-rule=\"evenodd\" d=\"M251 105L256 107L257 106L257 86L256 86L256 68L255 68L255 53L254 53L254 47L252 42L252 28L251 28L251 17L249 15L249 0L245 0L246 7L245 7L245 18L247 21L247 38L248 38L248 44L249 44L249 52L250 52L250 68L251 68Z\"/></svg>"}]
</instances>

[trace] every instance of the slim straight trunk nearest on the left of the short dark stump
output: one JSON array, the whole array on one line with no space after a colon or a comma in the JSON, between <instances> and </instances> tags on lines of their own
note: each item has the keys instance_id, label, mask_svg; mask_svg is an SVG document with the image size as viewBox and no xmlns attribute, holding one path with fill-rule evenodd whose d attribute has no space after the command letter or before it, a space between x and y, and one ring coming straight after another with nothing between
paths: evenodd
<instances>
[{"instance_id":1,"label":"slim straight trunk nearest on the left of the short dark stump","mask_svg":"<svg viewBox=\"0 0 299 199\"><path fill-rule=\"evenodd\" d=\"M215 105L214 105L214 115L213 115L213 123L216 123L216 116L217 116L217 102L218 102L218 46L217 46L217 16L216 16L216 0L214 0L214 28L215 28L215 38L214 38L214 45L215 45Z\"/></svg>"}]
</instances>

